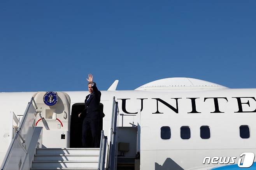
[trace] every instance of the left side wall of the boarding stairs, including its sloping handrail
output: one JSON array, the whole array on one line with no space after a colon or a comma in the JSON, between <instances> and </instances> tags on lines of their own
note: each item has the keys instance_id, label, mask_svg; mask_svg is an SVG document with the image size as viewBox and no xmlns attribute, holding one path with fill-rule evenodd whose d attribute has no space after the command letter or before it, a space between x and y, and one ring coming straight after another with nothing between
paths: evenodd
<instances>
[{"instance_id":1,"label":"left side wall of the boarding stairs, including its sloping handrail","mask_svg":"<svg viewBox=\"0 0 256 170\"><path fill-rule=\"evenodd\" d=\"M35 127L35 108L37 106L35 104L34 108L34 104L35 102L32 97L5 154L1 170L28 169L30 167L35 148L40 145L40 135L42 134L42 128ZM11 115L12 119L14 115L13 113Z\"/></svg>"}]
</instances>

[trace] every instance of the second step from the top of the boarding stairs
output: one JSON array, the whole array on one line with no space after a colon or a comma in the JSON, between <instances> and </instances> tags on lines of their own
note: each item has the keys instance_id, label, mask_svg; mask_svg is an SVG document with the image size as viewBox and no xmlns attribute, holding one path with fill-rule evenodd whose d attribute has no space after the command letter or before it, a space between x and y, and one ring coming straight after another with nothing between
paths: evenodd
<instances>
[{"instance_id":1,"label":"second step from the top of the boarding stairs","mask_svg":"<svg viewBox=\"0 0 256 170\"><path fill-rule=\"evenodd\" d=\"M99 154L35 154L35 161L98 161Z\"/></svg>"}]
</instances>

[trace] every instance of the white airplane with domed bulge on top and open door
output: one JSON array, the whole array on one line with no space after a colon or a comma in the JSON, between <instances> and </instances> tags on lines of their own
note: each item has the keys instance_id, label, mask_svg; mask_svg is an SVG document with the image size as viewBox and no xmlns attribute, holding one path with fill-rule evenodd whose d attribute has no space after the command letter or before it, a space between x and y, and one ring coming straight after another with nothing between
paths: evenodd
<instances>
[{"instance_id":1,"label":"white airplane with domed bulge on top and open door","mask_svg":"<svg viewBox=\"0 0 256 170\"><path fill-rule=\"evenodd\" d=\"M112 167L107 165L108 154L102 157L107 162L103 169L256 168L256 88L233 89L182 77L156 80L135 90L116 90L117 84L118 80L107 91L101 91L100 103L105 114L102 129L107 139L104 146L113 145L109 150L114 152ZM49 97L54 94L57 104L46 105L45 98L52 103L57 100ZM8 166L7 150L25 111L31 117L23 123L24 128L30 126L23 130L23 137L30 137L30 143L34 139L36 142L30 150L32 144L28 146L27 141L19 137L14 150L23 148L29 158L25 160L26 156L16 153L9 163L14 169L40 169L36 156L37 151L43 149L66 148L71 154L72 148L81 148L78 114L84 107L86 95L88 91L0 93L0 162L5 161L3 164ZM114 112L116 119L113 119ZM113 127L115 133L112 133ZM38 130L37 137L33 134L34 128ZM111 143L112 134L115 139ZM67 160L56 161L59 169L68 169Z\"/></svg>"}]
</instances>

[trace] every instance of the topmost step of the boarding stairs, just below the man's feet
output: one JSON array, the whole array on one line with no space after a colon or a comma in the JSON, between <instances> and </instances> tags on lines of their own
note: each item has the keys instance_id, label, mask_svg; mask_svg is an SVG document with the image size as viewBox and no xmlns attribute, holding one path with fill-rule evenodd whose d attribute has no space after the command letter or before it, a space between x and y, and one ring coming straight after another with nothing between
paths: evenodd
<instances>
[{"instance_id":1,"label":"topmost step of the boarding stairs, just below the man's feet","mask_svg":"<svg viewBox=\"0 0 256 170\"><path fill-rule=\"evenodd\" d=\"M39 148L39 154L99 154L100 148Z\"/></svg>"}]
</instances>

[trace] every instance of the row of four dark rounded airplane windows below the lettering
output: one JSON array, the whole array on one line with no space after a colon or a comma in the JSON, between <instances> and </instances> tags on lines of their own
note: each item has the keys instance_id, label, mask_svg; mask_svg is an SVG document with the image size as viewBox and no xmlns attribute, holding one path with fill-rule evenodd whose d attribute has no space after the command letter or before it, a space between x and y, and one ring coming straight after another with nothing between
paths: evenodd
<instances>
[{"instance_id":1,"label":"row of four dark rounded airplane windows below the lettering","mask_svg":"<svg viewBox=\"0 0 256 170\"><path fill-rule=\"evenodd\" d=\"M241 125L239 127L240 137L242 139L247 139L250 137L250 129L248 125ZM181 127L181 139L190 139L190 127L182 126ZM210 138L210 128L209 126L200 127L200 137L202 139ZM161 139L170 139L171 138L171 128L168 126L161 127Z\"/></svg>"}]
</instances>

